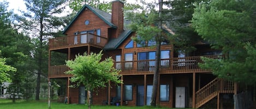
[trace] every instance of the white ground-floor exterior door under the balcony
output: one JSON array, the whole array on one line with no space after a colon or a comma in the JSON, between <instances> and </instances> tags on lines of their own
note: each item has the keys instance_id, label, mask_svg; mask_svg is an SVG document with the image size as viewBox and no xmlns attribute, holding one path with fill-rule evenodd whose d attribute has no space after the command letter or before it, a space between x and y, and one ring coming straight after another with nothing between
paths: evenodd
<instances>
[{"instance_id":1,"label":"white ground-floor exterior door under the balcony","mask_svg":"<svg viewBox=\"0 0 256 109\"><path fill-rule=\"evenodd\" d=\"M185 87L176 87L175 107L185 108Z\"/></svg>"}]
</instances>

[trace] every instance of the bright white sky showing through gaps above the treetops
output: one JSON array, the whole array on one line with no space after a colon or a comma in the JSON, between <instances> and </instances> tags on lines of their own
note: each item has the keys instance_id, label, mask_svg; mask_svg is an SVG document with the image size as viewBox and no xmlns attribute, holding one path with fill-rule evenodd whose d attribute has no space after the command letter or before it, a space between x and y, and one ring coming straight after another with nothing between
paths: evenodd
<instances>
[{"instance_id":1,"label":"bright white sky showing through gaps above the treetops","mask_svg":"<svg viewBox=\"0 0 256 109\"><path fill-rule=\"evenodd\" d=\"M4 0L0 0L0 2L3 2ZM14 9L14 13L19 14L18 10L26 10L26 5L23 0L5 0L9 2L8 10ZM53 0L54 1L54 0ZM101 1L112 1L112 0L101 0ZM152 1L158 1L158 0L146 0L146 2L152 2ZM136 0L127 0L128 3L136 3Z\"/></svg>"}]
</instances>

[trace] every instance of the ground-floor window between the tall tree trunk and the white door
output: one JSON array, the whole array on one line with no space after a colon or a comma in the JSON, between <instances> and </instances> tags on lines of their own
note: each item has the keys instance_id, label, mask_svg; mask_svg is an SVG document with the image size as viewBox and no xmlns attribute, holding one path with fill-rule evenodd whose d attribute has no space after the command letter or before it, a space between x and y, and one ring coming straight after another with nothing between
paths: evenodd
<instances>
[{"instance_id":1,"label":"ground-floor window between the tall tree trunk and the white door","mask_svg":"<svg viewBox=\"0 0 256 109\"><path fill-rule=\"evenodd\" d=\"M169 101L169 85L160 85L160 101Z\"/></svg>"}]
</instances>

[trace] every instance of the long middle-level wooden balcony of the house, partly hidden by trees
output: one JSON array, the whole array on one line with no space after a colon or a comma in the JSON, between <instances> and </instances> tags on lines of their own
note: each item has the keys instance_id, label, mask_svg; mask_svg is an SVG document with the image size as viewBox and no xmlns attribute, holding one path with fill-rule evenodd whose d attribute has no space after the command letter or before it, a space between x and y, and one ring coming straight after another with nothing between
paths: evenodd
<instances>
[{"instance_id":1,"label":"long middle-level wooden balcony of the house, partly hidden by trees","mask_svg":"<svg viewBox=\"0 0 256 109\"><path fill-rule=\"evenodd\" d=\"M171 59L160 60L160 74L174 74L174 73L210 73L209 69L200 69L198 63L203 63L201 56L190 57L176 57ZM213 59L221 59L222 56L204 56ZM140 60L140 61L120 61L115 62L114 67L122 70L122 75L140 75L140 74L153 74L155 67L155 60ZM71 75L64 74L69 70L67 66L50 66L49 78L53 77L67 77Z\"/></svg>"}]
</instances>

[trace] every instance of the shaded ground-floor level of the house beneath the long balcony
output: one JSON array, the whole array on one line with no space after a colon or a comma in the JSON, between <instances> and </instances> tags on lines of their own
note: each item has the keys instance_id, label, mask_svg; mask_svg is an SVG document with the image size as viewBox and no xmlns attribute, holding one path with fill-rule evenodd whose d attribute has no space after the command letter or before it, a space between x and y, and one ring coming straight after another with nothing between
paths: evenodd
<instances>
[{"instance_id":1,"label":"shaded ground-floor level of the house beneath the long balcony","mask_svg":"<svg viewBox=\"0 0 256 109\"><path fill-rule=\"evenodd\" d=\"M164 107L195 107L195 93L203 86L215 80L215 76L206 73L160 74L158 82L157 104ZM87 99L85 87L70 88L69 78L64 96L70 104L84 104ZM123 84L111 84L92 95L93 105L150 105L153 75L123 75ZM230 92L229 92L230 93ZM194 100L194 101L193 101ZM198 100L198 99L197 99Z\"/></svg>"}]
</instances>

